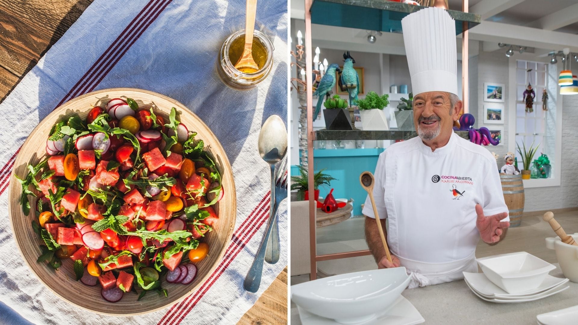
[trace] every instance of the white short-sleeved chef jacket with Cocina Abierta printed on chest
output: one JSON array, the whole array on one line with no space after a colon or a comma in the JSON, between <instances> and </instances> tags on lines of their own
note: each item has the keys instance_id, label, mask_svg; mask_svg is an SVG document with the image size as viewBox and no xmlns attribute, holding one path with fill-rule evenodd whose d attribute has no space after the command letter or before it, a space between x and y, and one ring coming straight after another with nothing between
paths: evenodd
<instances>
[{"instance_id":1,"label":"white short-sleeved chef jacket with Cocina Abierta printed on chest","mask_svg":"<svg viewBox=\"0 0 578 325\"><path fill-rule=\"evenodd\" d=\"M475 205L486 216L508 211L495 158L454 132L434 152L418 136L388 147L377 161L373 197L380 219L388 219L391 253L415 280L410 287L477 272ZM369 196L362 213L375 218Z\"/></svg>"}]
</instances>

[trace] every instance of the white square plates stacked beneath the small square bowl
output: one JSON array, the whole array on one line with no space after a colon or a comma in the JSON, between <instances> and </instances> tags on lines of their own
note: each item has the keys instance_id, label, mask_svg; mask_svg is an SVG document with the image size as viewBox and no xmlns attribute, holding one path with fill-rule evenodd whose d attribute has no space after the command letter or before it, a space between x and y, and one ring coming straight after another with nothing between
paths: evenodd
<instances>
[{"instance_id":1,"label":"white square plates stacked beneath the small square bowl","mask_svg":"<svg viewBox=\"0 0 578 325\"><path fill-rule=\"evenodd\" d=\"M555 289L556 287L559 287L569 281L566 278L556 278L554 276L547 275L542 284L540 284L540 286L538 286L536 289L523 291L516 294L510 294L491 282L483 273L462 273L464 274L464 280L468 282L468 285L472 287L473 290L476 290L477 293L481 294L481 296L498 299L528 298L535 296L536 294Z\"/></svg>"}]
</instances>

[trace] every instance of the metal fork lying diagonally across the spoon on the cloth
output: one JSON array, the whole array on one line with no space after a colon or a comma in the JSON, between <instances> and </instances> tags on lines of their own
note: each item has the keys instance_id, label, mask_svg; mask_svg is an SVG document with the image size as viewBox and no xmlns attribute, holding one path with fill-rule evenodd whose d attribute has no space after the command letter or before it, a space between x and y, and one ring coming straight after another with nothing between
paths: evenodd
<instances>
[{"instance_id":1,"label":"metal fork lying diagonally across the spoon on the cloth","mask_svg":"<svg viewBox=\"0 0 578 325\"><path fill-rule=\"evenodd\" d=\"M284 175L284 172L283 172ZM281 201L287 198L287 183L288 180L286 177L283 178L281 182L277 182L275 184L275 205L273 206L273 213L271 217L269 217L269 223L267 224L267 230L265 231L265 235L261 240L261 246L259 246L259 250L257 251L257 255L255 255L255 260L247 272L247 276L245 277L245 281L243 283L243 287L245 290L255 293L259 290L259 286L261 286L261 274L263 272L263 260L265 259L265 250L267 247L267 242L269 241L269 237L271 236L271 231L273 230L273 226L275 222L273 220L277 217L277 210L279 210L279 204Z\"/></svg>"}]
</instances>

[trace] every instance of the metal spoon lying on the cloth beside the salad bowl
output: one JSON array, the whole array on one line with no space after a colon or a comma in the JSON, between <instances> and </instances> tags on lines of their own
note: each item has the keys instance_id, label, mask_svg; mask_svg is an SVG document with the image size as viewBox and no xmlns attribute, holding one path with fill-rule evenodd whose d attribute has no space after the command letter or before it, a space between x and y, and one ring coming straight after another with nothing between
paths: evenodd
<instances>
[{"instance_id":1,"label":"metal spoon lying on the cloth beside the salad bowl","mask_svg":"<svg viewBox=\"0 0 578 325\"><path fill-rule=\"evenodd\" d=\"M287 130L281 117L272 115L263 123L258 147L261 158L271 166L271 208L269 210L273 212L276 182L275 164L283 159L287 153ZM279 225L275 219L269 214L269 222L273 223L273 232L267 242L265 261L270 264L279 261Z\"/></svg>"}]
</instances>

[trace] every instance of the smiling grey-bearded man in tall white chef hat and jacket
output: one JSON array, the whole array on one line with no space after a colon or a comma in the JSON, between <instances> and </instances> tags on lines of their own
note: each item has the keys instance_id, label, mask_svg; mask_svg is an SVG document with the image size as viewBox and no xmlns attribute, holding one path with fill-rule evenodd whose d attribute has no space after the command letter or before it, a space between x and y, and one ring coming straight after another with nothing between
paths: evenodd
<instances>
[{"instance_id":1,"label":"smiling grey-bearded man in tall white chef hat and jacket","mask_svg":"<svg viewBox=\"0 0 578 325\"><path fill-rule=\"evenodd\" d=\"M494 245L510 226L495 158L453 132L457 97L455 21L425 8L402 19L412 79L417 134L381 153L373 196L382 228L388 221L387 260L369 197L365 236L379 268L406 268L409 287L463 279L477 272L479 238Z\"/></svg>"}]
</instances>

